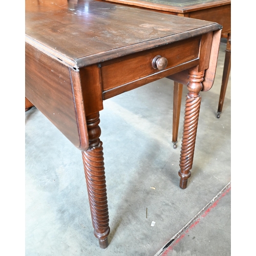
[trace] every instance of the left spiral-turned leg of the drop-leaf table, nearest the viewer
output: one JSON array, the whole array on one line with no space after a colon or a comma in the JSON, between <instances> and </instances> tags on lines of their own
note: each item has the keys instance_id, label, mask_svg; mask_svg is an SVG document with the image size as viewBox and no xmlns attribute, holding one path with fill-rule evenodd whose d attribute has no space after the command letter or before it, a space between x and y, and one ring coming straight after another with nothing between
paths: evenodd
<instances>
[{"instance_id":1,"label":"left spiral-turned leg of the drop-leaf table, nearest the viewer","mask_svg":"<svg viewBox=\"0 0 256 256\"><path fill-rule=\"evenodd\" d=\"M106 197L103 147L99 137L99 113L87 116L89 148L82 152L84 174L86 176L94 235L101 248L109 245L109 210Z\"/></svg>"}]
</instances>

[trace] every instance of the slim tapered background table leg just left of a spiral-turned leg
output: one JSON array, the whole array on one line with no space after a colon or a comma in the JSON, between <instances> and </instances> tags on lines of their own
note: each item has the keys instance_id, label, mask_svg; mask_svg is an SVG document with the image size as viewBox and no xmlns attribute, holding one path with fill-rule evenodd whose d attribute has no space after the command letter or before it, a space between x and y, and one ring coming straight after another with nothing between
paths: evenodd
<instances>
[{"instance_id":1,"label":"slim tapered background table leg just left of a spiral-turned leg","mask_svg":"<svg viewBox=\"0 0 256 256\"><path fill-rule=\"evenodd\" d=\"M182 89L183 89L183 84L174 81L174 104L173 104L173 143L174 143L174 148L177 147L176 144L178 142Z\"/></svg>"}]
</instances>

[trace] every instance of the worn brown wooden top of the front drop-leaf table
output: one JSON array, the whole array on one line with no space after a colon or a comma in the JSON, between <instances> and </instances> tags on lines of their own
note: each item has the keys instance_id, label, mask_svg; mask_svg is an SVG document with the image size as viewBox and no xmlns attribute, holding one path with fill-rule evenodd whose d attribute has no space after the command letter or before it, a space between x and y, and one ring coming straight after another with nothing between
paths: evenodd
<instances>
[{"instance_id":1,"label":"worn brown wooden top of the front drop-leaf table","mask_svg":"<svg viewBox=\"0 0 256 256\"><path fill-rule=\"evenodd\" d=\"M26 42L74 68L219 28L214 22L103 1L26 0Z\"/></svg>"}]
</instances>

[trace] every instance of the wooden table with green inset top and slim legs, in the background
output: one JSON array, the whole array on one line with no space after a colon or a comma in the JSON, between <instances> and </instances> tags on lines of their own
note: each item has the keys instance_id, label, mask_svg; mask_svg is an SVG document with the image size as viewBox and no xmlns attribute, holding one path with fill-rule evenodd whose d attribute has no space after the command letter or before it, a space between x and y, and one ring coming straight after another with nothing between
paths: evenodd
<instances>
[{"instance_id":1,"label":"wooden table with green inset top and slim legs, in the background","mask_svg":"<svg viewBox=\"0 0 256 256\"><path fill-rule=\"evenodd\" d=\"M221 36L227 38L217 118L222 113L231 67L231 0L105 0L134 7L153 9L182 17L217 22L223 26ZM172 79L172 78L171 78ZM180 120L182 83L174 81L173 143L176 148Z\"/></svg>"}]
</instances>

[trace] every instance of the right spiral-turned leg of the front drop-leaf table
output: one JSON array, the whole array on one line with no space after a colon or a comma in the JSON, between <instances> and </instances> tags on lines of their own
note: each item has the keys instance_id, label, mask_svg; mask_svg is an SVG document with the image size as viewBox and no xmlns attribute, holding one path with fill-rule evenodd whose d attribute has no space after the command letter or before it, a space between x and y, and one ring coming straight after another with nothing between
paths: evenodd
<instances>
[{"instance_id":1,"label":"right spiral-turned leg of the front drop-leaf table","mask_svg":"<svg viewBox=\"0 0 256 256\"><path fill-rule=\"evenodd\" d=\"M190 169L193 165L198 117L201 104L200 91L203 89L202 81L204 71L189 70L188 94L185 103L185 117L180 154L180 187L187 187L187 180L191 176Z\"/></svg>"}]
</instances>

